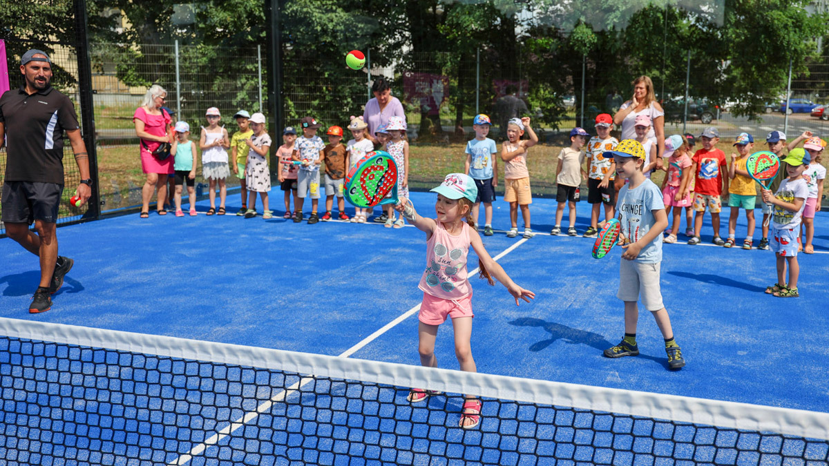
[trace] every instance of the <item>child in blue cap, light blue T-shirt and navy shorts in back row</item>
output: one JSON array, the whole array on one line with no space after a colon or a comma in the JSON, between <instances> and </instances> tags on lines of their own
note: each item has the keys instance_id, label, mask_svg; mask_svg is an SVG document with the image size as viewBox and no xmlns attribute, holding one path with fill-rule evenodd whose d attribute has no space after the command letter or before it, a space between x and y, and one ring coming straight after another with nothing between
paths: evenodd
<instances>
[{"instance_id":1,"label":"child in blue cap, light blue T-shirt and navy shorts in back row","mask_svg":"<svg viewBox=\"0 0 829 466\"><path fill-rule=\"evenodd\" d=\"M492 236L492 201L495 201L495 187L498 186L498 167L496 158L492 157L498 149L495 141L487 138L489 127L492 126L489 116L479 114L475 116L472 127L475 130L475 138L467 143L466 165L464 172L475 180L478 187L478 198L472 208L472 218L475 225L478 225L478 211L483 202L484 215L487 223L483 226L483 234Z\"/></svg>"}]
</instances>

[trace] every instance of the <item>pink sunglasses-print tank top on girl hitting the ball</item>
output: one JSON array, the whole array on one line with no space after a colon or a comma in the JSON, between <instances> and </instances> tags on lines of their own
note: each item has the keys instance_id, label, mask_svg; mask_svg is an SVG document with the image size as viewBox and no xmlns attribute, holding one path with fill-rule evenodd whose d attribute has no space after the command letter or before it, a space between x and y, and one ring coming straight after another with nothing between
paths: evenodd
<instances>
[{"instance_id":1,"label":"pink sunglasses-print tank top on girl hitting the ball","mask_svg":"<svg viewBox=\"0 0 829 466\"><path fill-rule=\"evenodd\" d=\"M466 269L469 226L464 222L460 235L453 236L441 222L435 223L438 227L426 241L426 269L418 288L435 298L465 298L472 293Z\"/></svg>"}]
</instances>

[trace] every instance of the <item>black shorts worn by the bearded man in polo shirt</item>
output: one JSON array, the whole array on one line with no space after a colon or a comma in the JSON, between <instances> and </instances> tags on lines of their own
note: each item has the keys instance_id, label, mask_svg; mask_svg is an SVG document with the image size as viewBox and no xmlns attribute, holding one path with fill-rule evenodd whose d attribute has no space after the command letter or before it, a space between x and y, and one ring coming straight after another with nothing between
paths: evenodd
<instances>
[{"instance_id":1,"label":"black shorts worn by the bearded man in polo shirt","mask_svg":"<svg viewBox=\"0 0 829 466\"><path fill-rule=\"evenodd\" d=\"M32 225L40 220L57 223L63 185L44 182L4 182L2 221Z\"/></svg>"}]
</instances>

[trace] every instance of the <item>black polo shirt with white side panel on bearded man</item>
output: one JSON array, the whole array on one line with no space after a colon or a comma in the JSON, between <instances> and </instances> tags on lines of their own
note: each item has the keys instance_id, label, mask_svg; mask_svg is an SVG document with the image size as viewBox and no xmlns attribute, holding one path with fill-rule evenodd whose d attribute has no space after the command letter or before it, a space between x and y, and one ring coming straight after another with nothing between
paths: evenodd
<instances>
[{"instance_id":1,"label":"black polo shirt with white side panel on bearded man","mask_svg":"<svg viewBox=\"0 0 829 466\"><path fill-rule=\"evenodd\" d=\"M75 105L51 86L28 95L7 90L0 97L6 127L7 182L63 184L63 132L79 129Z\"/></svg>"}]
</instances>

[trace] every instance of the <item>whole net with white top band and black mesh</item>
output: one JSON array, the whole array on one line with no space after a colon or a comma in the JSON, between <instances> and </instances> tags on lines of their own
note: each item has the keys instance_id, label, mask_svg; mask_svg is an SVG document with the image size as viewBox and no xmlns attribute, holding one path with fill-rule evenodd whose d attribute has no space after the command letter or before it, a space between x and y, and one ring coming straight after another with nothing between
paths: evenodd
<instances>
[{"instance_id":1,"label":"whole net with white top band and black mesh","mask_svg":"<svg viewBox=\"0 0 829 466\"><path fill-rule=\"evenodd\" d=\"M2 464L829 461L827 413L7 318L0 391Z\"/></svg>"}]
</instances>

